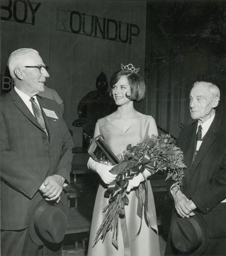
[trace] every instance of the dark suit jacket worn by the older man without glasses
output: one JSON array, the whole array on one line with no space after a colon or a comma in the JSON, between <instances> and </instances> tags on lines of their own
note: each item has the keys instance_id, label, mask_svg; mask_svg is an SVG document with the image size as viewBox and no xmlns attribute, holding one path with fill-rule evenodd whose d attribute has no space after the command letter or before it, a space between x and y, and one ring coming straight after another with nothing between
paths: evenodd
<instances>
[{"instance_id":1,"label":"dark suit jacket worn by the older man without glasses","mask_svg":"<svg viewBox=\"0 0 226 256\"><path fill-rule=\"evenodd\" d=\"M206 224L208 239L214 241L213 245L208 244L211 247L216 246L217 240L226 244L226 203L221 203L226 198L226 124L216 113L191 166L197 124L198 121L185 126L176 141L187 166L181 190L197 206L196 211ZM168 189L174 182L168 182ZM214 252L216 248L208 250Z\"/></svg>"}]
</instances>

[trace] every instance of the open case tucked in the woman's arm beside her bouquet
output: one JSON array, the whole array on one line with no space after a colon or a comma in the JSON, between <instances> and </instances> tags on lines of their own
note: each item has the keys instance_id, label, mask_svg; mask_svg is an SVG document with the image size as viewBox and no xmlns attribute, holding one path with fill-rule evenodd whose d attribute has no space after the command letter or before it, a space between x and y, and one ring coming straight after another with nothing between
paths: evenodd
<instances>
[{"instance_id":1,"label":"open case tucked in the woman's arm beside her bouquet","mask_svg":"<svg viewBox=\"0 0 226 256\"><path fill-rule=\"evenodd\" d=\"M110 148L108 148L105 142L101 139L101 135L98 135L91 140L88 153L96 162L101 164L115 165L120 162Z\"/></svg>"}]
</instances>

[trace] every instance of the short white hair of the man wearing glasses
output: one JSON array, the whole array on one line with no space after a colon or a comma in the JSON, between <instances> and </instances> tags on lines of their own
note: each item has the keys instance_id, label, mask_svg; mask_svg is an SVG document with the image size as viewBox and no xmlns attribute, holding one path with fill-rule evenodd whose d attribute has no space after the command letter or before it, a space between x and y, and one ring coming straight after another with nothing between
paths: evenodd
<instances>
[{"instance_id":1,"label":"short white hair of the man wearing glasses","mask_svg":"<svg viewBox=\"0 0 226 256\"><path fill-rule=\"evenodd\" d=\"M14 74L14 70L15 70L15 68L19 68L18 65L19 65L20 58L30 52L38 53L36 50L31 49L31 48L21 48L21 49L18 49L10 54L8 62L7 62L7 66L9 67L10 75L12 76L13 80L16 78L16 76Z\"/></svg>"}]
</instances>

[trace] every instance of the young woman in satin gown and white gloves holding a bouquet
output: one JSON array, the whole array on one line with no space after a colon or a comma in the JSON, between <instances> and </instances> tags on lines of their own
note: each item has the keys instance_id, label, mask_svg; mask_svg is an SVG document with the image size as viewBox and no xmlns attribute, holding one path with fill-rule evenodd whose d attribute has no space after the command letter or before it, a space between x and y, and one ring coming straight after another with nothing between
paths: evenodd
<instances>
[{"instance_id":1,"label":"young woman in satin gown and white gloves holding a bouquet","mask_svg":"<svg viewBox=\"0 0 226 256\"><path fill-rule=\"evenodd\" d=\"M97 121L94 137L100 134L115 156L121 160L121 154L125 154L125 150L129 144L132 146L136 145L142 142L147 135L158 135L158 130L152 116L143 115L134 109L134 102L142 101L145 95L144 80L138 74L133 73L129 69L119 70L111 77L110 85L112 88L111 94L118 108L116 112ZM106 184L115 180L117 175L109 172L113 166L97 163L91 157L88 161L88 167L90 170L97 172L102 179L102 183L99 185L97 191L93 211L88 256L124 256L120 223L118 226L118 249L112 244L111 230L107 232L104 240L99 239L96 243L94 242L97 230L105 216L103 209L109 203L109 199L104 197L104 192L107 188ZM150 172L144 170L144 175L148 177ZM129 180L127 188L129 204L125 206L125 215L129 234L130 253L131 256L159 256L159 237L147 224L148 222L145 221L144 212L140 234L135 238L140 227L141 219L136 215L138 199L136 197L136 191L133 188L139 186L142 181L144 181L144 177L140 173L133 180ZM147 183L148 204L152 208L153 218L156 221L155 204L150 180Z\"/></svg>"}]
</instances>

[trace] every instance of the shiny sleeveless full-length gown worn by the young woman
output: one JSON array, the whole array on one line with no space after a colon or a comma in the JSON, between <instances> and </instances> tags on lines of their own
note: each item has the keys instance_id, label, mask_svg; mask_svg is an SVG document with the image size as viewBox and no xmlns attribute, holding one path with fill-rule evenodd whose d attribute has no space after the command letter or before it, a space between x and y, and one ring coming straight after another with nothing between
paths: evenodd
<instances>
[{"instance_id":1,"label":"shiny sleeveless full-length gown worn by the young woman","mask_svg":"<svg viewBox=\"0 0 226 256\"><path fill-rule=\"evenodd\" d=\"M147 137L151 118L152 116L143 115L136 124L130 126L125 132L123 132L119 127L111 124L108 119L104 117L98 120L100 134L107 146L120 160L121 154L125 153L129 144L134 146L137 143L144 141ZM152 208L152 212L156 220L154 198L149 180L147 181L147 186L148 203ZM94 243L97 230L105 216L103 209L109 203L108 198L104 197L106 188L106 184L101 182L97 191L90 229L88 256L124 256L124 245L120 224L118 230L118 249L116 249L112 244L111 230L107 232L104 240L99 239L96 244ZM136 191L131 190L127 196L129 198L129 204L125 206L125 215L131 256L160 256L159 237L149 227L149 224L146 221L146 216L144 216L144 212L140 234L135 238L141 221L136 214L138 202Z\"/></svg>"}]
</instances>

